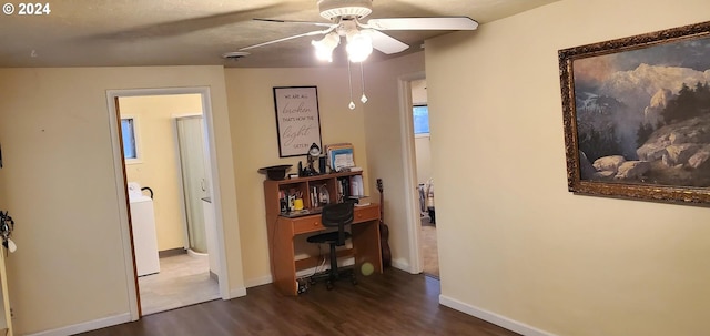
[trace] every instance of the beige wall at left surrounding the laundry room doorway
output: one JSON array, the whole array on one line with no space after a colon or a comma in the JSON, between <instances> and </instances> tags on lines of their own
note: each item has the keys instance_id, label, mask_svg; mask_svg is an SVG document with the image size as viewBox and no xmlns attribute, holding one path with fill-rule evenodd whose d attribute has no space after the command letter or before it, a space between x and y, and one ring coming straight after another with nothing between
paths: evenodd
<instances>
[{"instance_id":1,"label":"beige wall at left surrounding the laundry room doorway","mask_svg":"<svg viewBox=\"0 0 710 336\"><path fill-rule=\"evenodd\" d=\"M244 288L221 67L0 69L8 162L0 189L19 246L8 259L17 334L128 315L106 90L176 86L211 90L229 287Z\"/></svg>"}]
</instances>

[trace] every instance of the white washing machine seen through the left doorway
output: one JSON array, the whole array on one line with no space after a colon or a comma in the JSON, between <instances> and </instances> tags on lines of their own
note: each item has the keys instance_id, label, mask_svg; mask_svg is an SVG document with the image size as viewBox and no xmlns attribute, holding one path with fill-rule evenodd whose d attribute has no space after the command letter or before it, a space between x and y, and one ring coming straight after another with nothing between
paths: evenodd
<instances>
[{"instance_id":1,"label":"white washing machine seen through the left doorway","mask_svg":"<svg viewBox=\"0 0 710 336\"><path fill-rule=\"evenodd\" d=\"M143 195L138 183L129 182L129 203L131 206L133 251L135 252L138 276L159 273L160 259L158 257L153 200Z\"/></svg>"}]
</instances>

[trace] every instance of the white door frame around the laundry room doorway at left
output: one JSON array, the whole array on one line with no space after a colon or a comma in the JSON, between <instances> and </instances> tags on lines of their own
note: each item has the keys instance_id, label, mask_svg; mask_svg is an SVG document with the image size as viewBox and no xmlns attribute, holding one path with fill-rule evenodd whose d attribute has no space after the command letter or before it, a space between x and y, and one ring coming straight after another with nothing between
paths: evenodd
<instances>
[{"instance_id":1,"label":"white door frame around the laundry room doorway at left","mask_svg":"<svg viewBox=\"0 0 710 336\"><path fill-rule=\"evenodd\" d=\"M111 146L113 149L113 170L115 175L116 198L119 216L121 222L121 240L123 242L123 258L125 266L125 282L128 287L129 312L131 320L138 320L141 317L140 293L138 288L138 276L135 272L135 259L133 253L133 234L129 220L129 197L125 181L125 162L123 157L119 109L116 108L119 98L123 96L144 96L144 95L174 95L174 94L200 94L202 98L202 111L206 119L207 128L206 141L209 142L210 156L210 181L212 187L212 202L214 204L214 217L217 231L217 257L220 262L220 296L222 299L229 299L229 272L226 268L226 253L224 247L224 225L222 221L222 202L220 197L220 174L217 172L217 157L214 144L214 119L212 115L211 94L209 86L189 86L189 88L155 88L155 89L126 89L126 90L106 90L106 102L109 108L109 122L111 132Z\"/></svg>"}]
</instances>

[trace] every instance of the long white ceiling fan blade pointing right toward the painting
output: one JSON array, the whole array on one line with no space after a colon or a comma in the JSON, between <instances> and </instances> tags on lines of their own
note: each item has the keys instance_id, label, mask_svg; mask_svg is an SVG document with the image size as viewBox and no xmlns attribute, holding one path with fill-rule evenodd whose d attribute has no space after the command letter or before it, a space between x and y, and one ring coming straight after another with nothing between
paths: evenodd
<instances>
[{"instance_id":1,"label":"long white ceiling fan blade pointing right toward the painting","mask_svg":"<svg viewBox=\"0 0 710 336\"><path fill-rule=\"evenodd\" d=\"M478 22L468 17L371 19L365 27L377 30L475 30Z\"/></svg>"}]
</instances>

